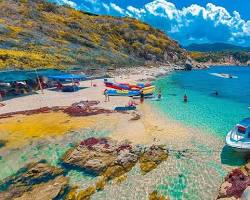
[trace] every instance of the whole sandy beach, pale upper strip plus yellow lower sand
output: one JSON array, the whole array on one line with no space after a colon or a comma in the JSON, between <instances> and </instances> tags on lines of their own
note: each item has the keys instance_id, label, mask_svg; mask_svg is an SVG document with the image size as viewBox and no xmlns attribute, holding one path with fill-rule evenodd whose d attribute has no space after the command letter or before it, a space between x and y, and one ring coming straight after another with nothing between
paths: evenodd
<instances>
[{"instance_id":1,"label":"whole sandy beach, pale upper strip plus yellow lower sand","mask_svg":"<svg viewBox=\"0 0 250 200\"><path fill-rule=\"evenodd\" d=\"M139 69L140 73L131 73L128 70L117 71L112 81L136 83L140 81L153 80L158 76L163 76L169 73L169 68L148 68ZM96 87L91 86L96 85ZM0 114L10 112L39 109L42 107L55 106L70 106L73 103L80 101L100 101L98 107L113 110L116 106L125 106L130 100L129 97L110 97L109 102L105 102L103 91L105 85L103 79L94 79L92 81L80 82L80 87L83 88L74 93L63 93L53 89L45 89L37 91L36 94L22 96L4 101L4 107L0 108ZM186 141L190 138L193 130L183 126L181 123L166 119L159 115L148 102L140 104L139 100L137 112L141 119L131 121L131 112L128 114L114 114L114 115L100 115L83 118L70 119L63 113L48 113L37 114L35 116L17 116L15 118L2 119L0 124L0 131L5 132L1 135L2 140L14 140L18 134L25 135L22 139L39 138L46 136L61 135L66 132L77 130L80 128L91 127L93 124L101 124L101 121L113 122L112 135L114 139L125 140L128 139L133 143L138 144L152 144L152 143L166 143L174 141L176 138ZM43 118L43 120L39 120ZM20 125L20 121L22 122ZM51 123L49 123L51 121ZM63 123L67 122L67 123ZM114 123L115 122L115 123ZM34 124L33 130L29 128L30 124ZM48 126L49 124L49 126ZM47 127L48 126L48 127ZM7 132L14 132L16 134L7 134ZM15 131L18 130L18 131ZM56 132L56 133L55 133ZM34 135L33 135L34 134ZM17 141L16 141L17 142ZM178 143L176 144L178 145Z\"/></svg>"}]
</instances>

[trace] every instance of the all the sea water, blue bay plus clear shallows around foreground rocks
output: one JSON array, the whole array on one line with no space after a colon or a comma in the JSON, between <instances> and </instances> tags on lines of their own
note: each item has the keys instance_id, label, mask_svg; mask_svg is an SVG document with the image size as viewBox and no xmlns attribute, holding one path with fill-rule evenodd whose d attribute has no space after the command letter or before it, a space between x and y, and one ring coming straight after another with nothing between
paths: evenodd
<instances>
[{"instance_id":1,"label":"all the sea water, blue bay plus clear shallows around foreground rocks","mask_svg":"<svg viewBox=\"0 0 250 200\"><path fill-rule=\"evenodd\" d=\"M227 73L238 78L226 79L210 73ZM162 90L163 100L150 103L170 118L213 134L219 145L215 142L213 146L214 140L210 143L206 140L187 141L189 144L183 148L188 146L192 152L184 156L173 152L166 162L144 176L137 166L128 173L126 181L120 185L108 185L104 191L94 194L93 199L145 199L148 191L154 189L174 200L214 199L227 173L225 165L240 165L243 162L238 154L222 148L226 133L238 121L250 115L249 77L250 68L213 67L176 72L157 80L155 84ZM212 94L215 90L219 96ZM183 102L185 93L188 103ZM0 157L0 180L14 174L32 160L46 159L52 165L60 166L61 156L75 142L109 134L105 130L88 130L87 133L85 130L64 135L61 139L40 141L22 150L12 150ZM71 185L81 187L96 181L96 178L78 170L70 170L67 176L70 177Z\"/></svg>"}]
</instances>

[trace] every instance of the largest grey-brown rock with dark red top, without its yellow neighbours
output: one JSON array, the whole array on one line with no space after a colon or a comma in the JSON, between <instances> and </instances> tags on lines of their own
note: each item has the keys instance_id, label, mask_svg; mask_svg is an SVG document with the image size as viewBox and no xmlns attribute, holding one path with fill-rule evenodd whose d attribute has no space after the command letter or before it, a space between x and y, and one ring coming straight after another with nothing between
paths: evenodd
<instances>
[{"instance_id":1,"label":"largest grey-brown rock with dark red top, without its yellow neighbours","mask_svg":"<svg viewBox=\"0 0 250 200\"><path fill-rule=\"evenodd\" d=\"M137 162L138 155L129 143L92 137L66 152L62 160L67 165L100 175L109 167L127 171L126 168Z\"/></svg>"}]
</instances>

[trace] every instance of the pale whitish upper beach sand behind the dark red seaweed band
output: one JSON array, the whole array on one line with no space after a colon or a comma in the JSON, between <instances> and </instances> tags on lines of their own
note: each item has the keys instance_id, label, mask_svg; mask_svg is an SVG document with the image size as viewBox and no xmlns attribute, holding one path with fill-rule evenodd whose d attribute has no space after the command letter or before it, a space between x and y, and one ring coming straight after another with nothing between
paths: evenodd
<instances>
[{"instance_id":1,"label":"pale whitish upper beach sand behind the dark red seaweed band","mask_svg":"<svg viewBox=\"0 0 250 200\"><path fill-rule=\"evenodd\" d=\"M166 74L170 71L169 67L161 68L136 68L133 70L121 69L115 72L115 78L110 80L119 82L134 82L139 80L154 79L155 76ZM110 102L104 102L103 91L105 89L103 79L92 81L97 87L91 87L91 81L82 81L80 87L86 87L77 92L68 93L52 91L45 89L43 93L38 91L37 94L20 96L10 100L3 101L4 107L0 107L0 114L37 109L41 107L53 106L70 106L83 100L99 100L100 107L113 109L116 106L124 106L128 103L128 97L110 97Z\"/></svg>"}]
</instances>

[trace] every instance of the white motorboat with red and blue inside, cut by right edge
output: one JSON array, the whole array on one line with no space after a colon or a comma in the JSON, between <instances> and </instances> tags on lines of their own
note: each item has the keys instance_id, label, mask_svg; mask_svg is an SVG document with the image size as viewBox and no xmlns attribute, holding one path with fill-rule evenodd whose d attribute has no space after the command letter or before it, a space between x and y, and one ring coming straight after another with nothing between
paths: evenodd
<instances>
[{"instance_id":1,"label":"white motorboat with red and blue inside, cut by right edge","mask_svg":"<svg viewBox=\"0 0 250 200\"><path fill-rule=\"evenodd\" d=\"M250 118L243 119L229 131L226 144L235 151L250 152Z\"/></svg>"}]
</instances>

